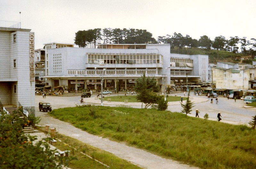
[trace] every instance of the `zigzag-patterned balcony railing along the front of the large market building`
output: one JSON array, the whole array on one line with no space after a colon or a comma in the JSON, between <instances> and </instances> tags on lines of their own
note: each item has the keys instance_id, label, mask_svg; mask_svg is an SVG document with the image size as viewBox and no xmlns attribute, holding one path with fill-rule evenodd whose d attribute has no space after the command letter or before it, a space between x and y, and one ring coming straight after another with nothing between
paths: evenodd
<instances>
[{"instance_id":1,"label":"zigzag-patterned balcony railing along the front of the large market building","mask_svg":"<svg viewBox=\"0 0 256 169\"><path fill-rule=\"evenodd\" d=\"M105 70L104 76L156 75L156 69L148 70ZM68 70L68 75L100 76L102 70Z\"/></svg>"}]
</instances>

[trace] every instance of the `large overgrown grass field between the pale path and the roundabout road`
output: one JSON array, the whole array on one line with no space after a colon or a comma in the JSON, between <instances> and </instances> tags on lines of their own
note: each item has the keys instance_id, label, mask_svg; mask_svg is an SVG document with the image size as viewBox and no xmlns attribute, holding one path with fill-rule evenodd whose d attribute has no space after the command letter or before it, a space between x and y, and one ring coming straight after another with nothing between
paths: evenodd
<instances>
[{"instance_id":1,"label":"large overgrown grass field between the pale path and the roundabout road","mask_svg":"<svg viewBox=\"0 0 256 169\"><path fill-rule=\"evenodd\" d=\"M245 125L125 107L70 107L50 114L89 133L201 168L256 168L256 131Z\"/></svg>"}]
</instances>

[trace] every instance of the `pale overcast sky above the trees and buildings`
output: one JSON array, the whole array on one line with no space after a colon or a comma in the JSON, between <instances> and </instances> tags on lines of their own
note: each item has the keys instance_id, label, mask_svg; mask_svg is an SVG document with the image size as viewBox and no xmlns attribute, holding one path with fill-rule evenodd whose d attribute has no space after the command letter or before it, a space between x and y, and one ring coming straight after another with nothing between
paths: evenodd
<instances>
[{"instance_id":1,"label":"pale overcast sky above the trees and buildings","mask_svg":"<svg viewBox=\"0 0 256 169\"><path fill-rule=\"evenodd\" d=\"M0 0L0 21L31 29L35 49L74 44L77 31L94 28L146 29L156 40L174 32L249 40L256 39L255 9L255 0Z\"/></svg>"}]
</instances>

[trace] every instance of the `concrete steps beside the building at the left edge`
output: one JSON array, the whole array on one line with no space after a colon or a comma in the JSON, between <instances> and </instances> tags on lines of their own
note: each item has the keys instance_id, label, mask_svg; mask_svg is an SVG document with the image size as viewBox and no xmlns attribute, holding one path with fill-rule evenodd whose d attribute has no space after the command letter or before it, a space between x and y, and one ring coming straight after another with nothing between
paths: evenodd
<instances>
[{"instance_id":1,"label":"concrete steps beside the building at the left edge","mask_svg":"<svg viewBox=\"0 0 256 169\"><path fill-rule=\"evenodd\" d=\"M22 113L18 111L18 108L14 105L5 105L4 108L6 109L6 111L9 112L9 114L14 117L13 121L15 121L16 118L20 118L20 119L24 119L26 120L27 117ZM24 133L37 133L38 130L35 130L32 126L29 127L24 127L22 129L22 131Z\"/></svg>"}]
</instances>

